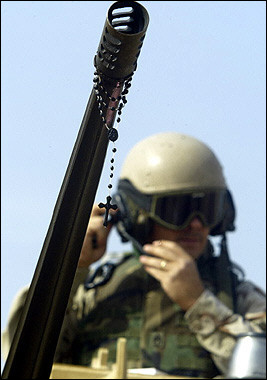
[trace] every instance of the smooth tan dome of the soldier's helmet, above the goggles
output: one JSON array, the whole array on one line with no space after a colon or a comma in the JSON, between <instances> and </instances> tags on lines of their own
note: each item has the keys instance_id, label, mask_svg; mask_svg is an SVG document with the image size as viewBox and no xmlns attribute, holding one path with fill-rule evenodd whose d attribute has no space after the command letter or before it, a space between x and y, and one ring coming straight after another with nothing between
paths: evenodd
<instances>
[{"instance_id":1,"label":"smooth tan dome of the soldier's helmet, above the goggles","mask_svg":"<svg viewBox=\"0 0 267 380\"><path fill-rule=\"evenodd\" d=\"M158 133L137 143L126 157L120 179L128 179L145 194L227 188L212 150L177 132Z\"/></svg>"}]
</instances>

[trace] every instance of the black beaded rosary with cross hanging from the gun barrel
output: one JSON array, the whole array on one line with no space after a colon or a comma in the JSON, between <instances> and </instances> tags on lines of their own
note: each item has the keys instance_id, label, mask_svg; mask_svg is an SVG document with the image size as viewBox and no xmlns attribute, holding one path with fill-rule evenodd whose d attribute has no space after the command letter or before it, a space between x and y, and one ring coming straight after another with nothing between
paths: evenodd
<instances>
[{"instance_id":1,"label":"black beaded rosary with cross hanging from the gun barrel","mask_svg":"<svg viewBox=\"0 0 267 380\"><path fill-rule=\"evenodd\" d=\"M104 216L104 222L103 225L107 227L108 225L108 216L109 216L109 210L117 210L118 206L116 204L111 204L112 196L110 195L110 191L112 189L112 178L113 178L113 171L114 171L114 161L115 161L115 153L117 152L117 148L115 146L115 141L118 139L119 134L118 130L112 126L113 119L115 116L115 113L118 112L117 117L117 123L121 121L121 114L122 114L122 108L127 103L126 95L129 92L129 88L131 87L131 80L133 77L133 74L128 77L125 81L118 81L116 84L116 87L113 89L112 94L109 94L105 87L103 86L103 82L101 79L100 74L98 71L95 71L94 73L94 91L96 94L96 99L98 102L98 109L100 116L102 118L103 124L105 128L107 129L108 139L113 142L113 149L112 149L112 158L110 160L111 166L110 170L111 173L109 175L109 195L106 197L106 203L100 202L98 204L98 207L105 208L105 216ZM104 99L108 99L108 103L104 101ZM105 116L104 116L105 115Z\"/></svg>"}]
</instances>

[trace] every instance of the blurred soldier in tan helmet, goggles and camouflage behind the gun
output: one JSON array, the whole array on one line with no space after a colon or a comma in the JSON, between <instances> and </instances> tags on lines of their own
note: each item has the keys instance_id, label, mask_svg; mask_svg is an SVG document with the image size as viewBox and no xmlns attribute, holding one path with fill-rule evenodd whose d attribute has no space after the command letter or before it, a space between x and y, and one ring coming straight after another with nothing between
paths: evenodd
<instances>
[{"instance_id":1,"label":"blurred soldier in tan helmet, goggles and camouflage behind the gun","mask_svg":"<svg viewBox=\"0 0 267 380\"><path fill-rule=\"evenodd\" d=\"M218 159L191 136L153 135L130 151L113 200L118 211L107 227L105 210L93 207L55 361L90 366L107 347L115 362L123 336L128 367L224 374L236 336L265 331L266 301L229 259L235 208ZM116 260L103 257L113 226L133 243ZM221 236L219 255L210 236Z\"/></svg>"}]
</instances>

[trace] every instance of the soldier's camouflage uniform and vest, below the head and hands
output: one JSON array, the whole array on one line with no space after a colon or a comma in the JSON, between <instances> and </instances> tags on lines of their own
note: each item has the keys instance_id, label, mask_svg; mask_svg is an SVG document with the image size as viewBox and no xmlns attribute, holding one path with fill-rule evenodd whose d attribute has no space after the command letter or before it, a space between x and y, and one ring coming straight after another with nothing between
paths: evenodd
<instances>
[{"instance_id":1,"label":"soldier's camouflage uniform and vest, below the head and hands","mask_svg":"<svg viewBox=\"0 0 267 380\"><path fill-rule=\"evenodd\" d=\"M144 271L135 253L125 253L109 281L89 290L84 286L88 271L78 269L55 361L90 366L97 349L107 347L114 363L116 341L123 336L129 368L156 367L200 378L223 373L235 336L265 330L265 295L238 281L233 313L232 297L216 283L216 260L210 253L198 260L206 290L186 312Z\"/></svg>"}]
</instances>

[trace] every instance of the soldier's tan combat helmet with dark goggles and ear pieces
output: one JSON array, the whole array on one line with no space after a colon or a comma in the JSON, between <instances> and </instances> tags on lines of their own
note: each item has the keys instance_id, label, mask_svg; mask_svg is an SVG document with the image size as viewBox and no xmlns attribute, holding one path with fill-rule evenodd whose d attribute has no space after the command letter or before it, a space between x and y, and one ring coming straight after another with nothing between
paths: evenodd
<instances>
[{"instance_id":1,"label":"soldier's tan combat helmet with dark goggles and ear pieces","mask_svg":"<svg viewBox=\"0 0 267 380\"><path fill-rule=\"evenodd\" d=\"M183 229L193 216L211 235L233 231L235 208L213 151L194 137L158 133L137 143L123 164L118 217L124 230L143 244L152 222Z\"/></svg>"}]
</instances>

